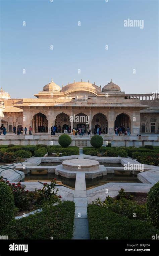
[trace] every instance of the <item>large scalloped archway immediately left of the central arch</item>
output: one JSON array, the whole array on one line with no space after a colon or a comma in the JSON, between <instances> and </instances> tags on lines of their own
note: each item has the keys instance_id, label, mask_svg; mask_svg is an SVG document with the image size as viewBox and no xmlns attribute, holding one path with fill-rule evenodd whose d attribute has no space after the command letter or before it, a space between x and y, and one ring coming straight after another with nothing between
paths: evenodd
<instances>
[{"instance_id":1,"label":"large scalloped archway immediately left of the central arch","mask_svg":"<svg viewBox=\"0 0 159 256\"><path fill-rule=\"evenodd\" d=\"M63 112L58 114L55 125L57 125L58 132L64 132L65 128L68 130L69 126L71 126L69 116Z\"/></svg>"}]
</instances>

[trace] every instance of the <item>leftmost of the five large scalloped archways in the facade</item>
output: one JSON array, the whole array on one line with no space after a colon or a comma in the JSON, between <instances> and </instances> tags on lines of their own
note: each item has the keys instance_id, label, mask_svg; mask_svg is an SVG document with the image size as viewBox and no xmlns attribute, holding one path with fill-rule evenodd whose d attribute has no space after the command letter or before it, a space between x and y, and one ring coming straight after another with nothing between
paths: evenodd
<instances>
[{"instance_id":1,"label":"leftmost of the five large scalloped archways in the facade","mask_svg":"<svg viewBox=\"0 0 159 256\"><path fill-rule=\"evenodd\" d=\"M43 113L37 113L33 117L33 131L48 132L48 120Z\"/></svg>"}]
</instances>

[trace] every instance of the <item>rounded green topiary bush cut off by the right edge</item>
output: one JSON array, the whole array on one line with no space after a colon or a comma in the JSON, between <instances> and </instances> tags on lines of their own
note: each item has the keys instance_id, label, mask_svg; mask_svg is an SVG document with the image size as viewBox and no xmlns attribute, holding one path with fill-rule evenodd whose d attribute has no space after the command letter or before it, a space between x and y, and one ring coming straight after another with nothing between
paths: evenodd
<instances>
[{"instance_id":1,"label":"rounded green topiary bush cut off by the right edge","mask_svg":"<svg viewBox=\"0 0 159 256\"><path fill-rule=\"evenodd\" d=\"M148 193L147 210L150 223L159 228L159 182Z\"/></svg>"}]
</instances>

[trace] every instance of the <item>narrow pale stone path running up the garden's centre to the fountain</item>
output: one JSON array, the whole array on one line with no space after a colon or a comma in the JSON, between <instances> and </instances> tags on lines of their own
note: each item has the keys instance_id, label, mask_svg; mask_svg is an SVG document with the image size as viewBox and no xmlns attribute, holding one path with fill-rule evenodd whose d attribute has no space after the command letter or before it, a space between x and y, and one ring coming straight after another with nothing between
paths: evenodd
<instances>
[{"instance_id":1,"label":"narrow pale stone path running up the garden's centre to the fountain","mask_svg":"<svg viewBox=\"0 0 159 256\"><path fill-rule=\"evenodd\" d=\"M80 150L78 159L84 159L82 151ZM75 218L72 239L90 239L87 218L86 180L85 173L82 171L76 173L73 201L75 202Z\"/></svg>"}]
</instances>

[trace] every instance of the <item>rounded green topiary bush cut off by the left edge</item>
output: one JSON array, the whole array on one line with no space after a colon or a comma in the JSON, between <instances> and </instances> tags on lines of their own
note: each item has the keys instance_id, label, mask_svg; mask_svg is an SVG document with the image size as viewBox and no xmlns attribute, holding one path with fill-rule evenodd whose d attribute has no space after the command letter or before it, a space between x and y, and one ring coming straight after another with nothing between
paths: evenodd
<instances>
[{"instance_id":1,"label":"rounded green topiary bush cut off by the left edge","mask_svg":"<svg viewBox=\"0 0 159 256\"><path fill-rule=\"evenodd\" d=\"M4 182L0 182L0 231L14 217L14 207L14 197L10 187Z\"/></svg>"}]
</instances>

